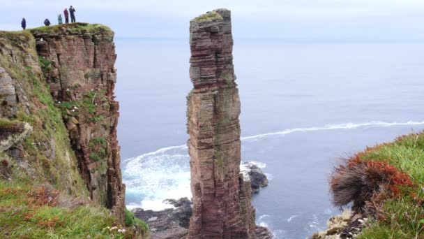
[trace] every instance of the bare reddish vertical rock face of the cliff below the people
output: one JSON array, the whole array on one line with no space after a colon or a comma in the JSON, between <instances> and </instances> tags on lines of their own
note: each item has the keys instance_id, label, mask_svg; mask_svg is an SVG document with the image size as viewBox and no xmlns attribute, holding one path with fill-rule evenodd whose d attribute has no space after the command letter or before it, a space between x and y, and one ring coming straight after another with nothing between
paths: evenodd
<instances>
[{"instance_id":1,"label":"bare reddish vertical rock face of the cliff below the people","mask_svg":"<svg viewBox=\"0 0 424 239\"><path fill-rule=\"evenodd\" d=\"M116 139L119 103L114 101L114 33L100 25L84 26L69 24L53 33L31 32L90 196L111 208L122 222L125 185Z\"/></svg>"}]
</instances>

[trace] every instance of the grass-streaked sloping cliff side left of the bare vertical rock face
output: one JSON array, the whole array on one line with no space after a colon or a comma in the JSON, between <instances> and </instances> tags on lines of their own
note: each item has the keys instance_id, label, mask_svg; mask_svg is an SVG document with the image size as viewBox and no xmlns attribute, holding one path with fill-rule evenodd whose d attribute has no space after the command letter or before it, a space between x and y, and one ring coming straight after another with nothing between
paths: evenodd
<instances>
[{"instance_id":1,"label":"grass-streaked sloping cliff side left of the bare vertical rock face","mask_svg":"<svg viewBox=\"0 0 424 239\"><path fill-rule=\"evenodd\" d=\"M47 182L66 194L86 196L28 32L0 31L0 102L0 155L16 172L8 180Z\"/></svg>"}]
</instances>

